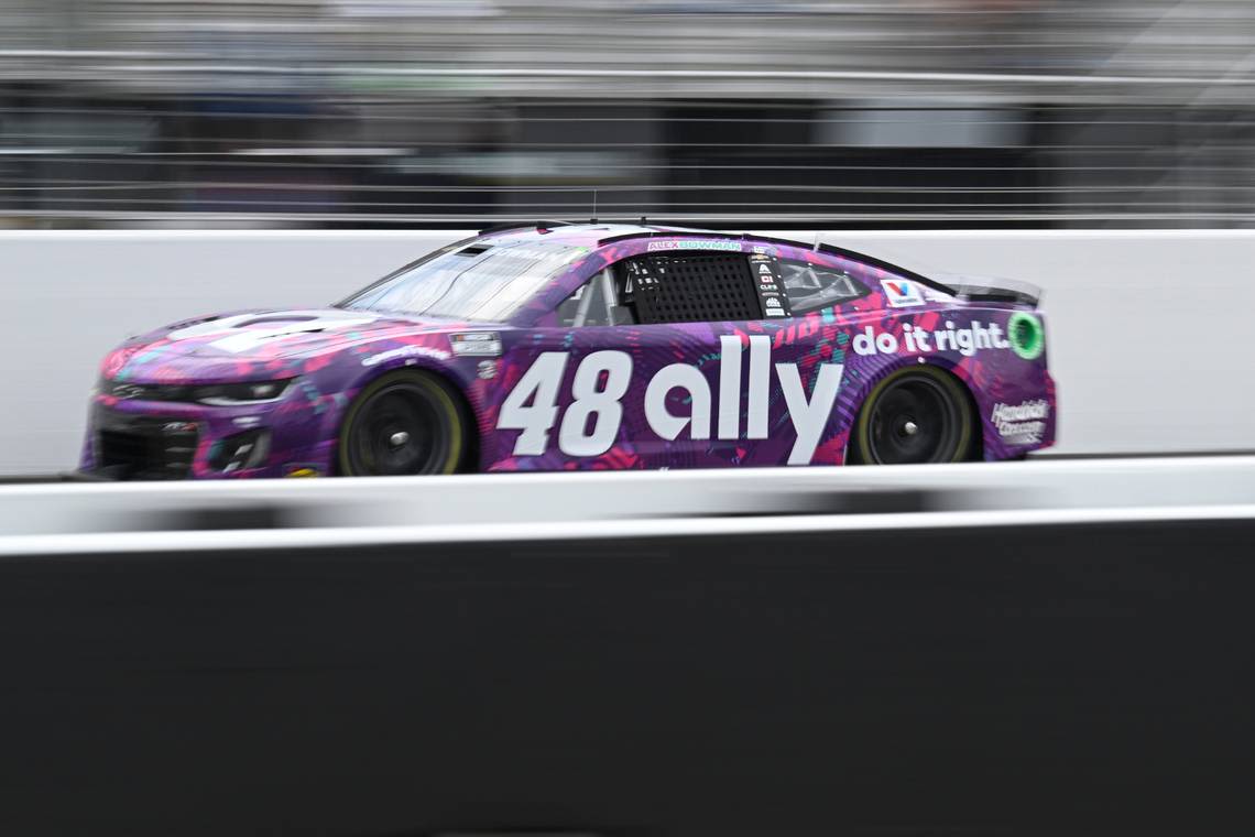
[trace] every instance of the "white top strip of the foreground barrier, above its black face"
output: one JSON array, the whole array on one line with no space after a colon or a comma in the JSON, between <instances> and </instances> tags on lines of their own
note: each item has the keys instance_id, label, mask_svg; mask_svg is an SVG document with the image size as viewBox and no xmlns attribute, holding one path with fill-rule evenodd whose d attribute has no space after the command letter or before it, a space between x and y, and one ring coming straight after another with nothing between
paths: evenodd
<instances>
[{"instance_id":1,"label":"white top strip of the foreground barrier, above its black face","mask_svg":"<svg viewBox=\"0 0 1255 837\"><path fill-rule=\"evenodd\" d=\"M117 551L109 533L179 533L182 548L221 548L223 530L282 530L264 546L316 545L363 530L388 541L481 540L520 526L589 536L643 522L831 514L1057 512L1255 504L1255 456L891 468L473 474L203 483L0 486L0 555ZM1119 518L1119 514L1116 516ZM974 520L974 518L966 518ZM1074 520L1069 517L1068 520ZM1017 521L1018 522L1018 521ZM622 526L619 526L619 525ZM931 523L929 523L931 525ZM297 530L306 530L299 533ZM207 537L205 532L213 532ZM399 535L398 535L399 532ZM15 536L24 536L20 541ZM58 536L64 536L60 540ZM307 537L306 537L307 536ZM68 537L68 540L65 540ZM371 540L379 535L369 536ZM168 545L168 540L154 541ZM20 543L20 546L14 546ZM134 540L125 542L133 548Z\"/></svg>"}]
</instances>

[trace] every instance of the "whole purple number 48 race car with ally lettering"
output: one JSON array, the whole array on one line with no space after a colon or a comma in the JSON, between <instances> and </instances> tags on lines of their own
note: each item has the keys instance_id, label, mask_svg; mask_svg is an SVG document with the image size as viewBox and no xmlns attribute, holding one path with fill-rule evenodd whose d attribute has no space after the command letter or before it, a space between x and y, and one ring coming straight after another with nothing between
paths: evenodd
<instances>
[{"instance_id":1,"label":"whole purple number 48 race car with ally lettering","mask_svg":"<svg viewBox=\"0 0 1255 837\"><path fill-rule=\"evenodd\" d=\"M1039 294L648 223L488 230L319 310L100 369L105 478L894 464L1054 442Z\"/></svg>"}]
</instances>

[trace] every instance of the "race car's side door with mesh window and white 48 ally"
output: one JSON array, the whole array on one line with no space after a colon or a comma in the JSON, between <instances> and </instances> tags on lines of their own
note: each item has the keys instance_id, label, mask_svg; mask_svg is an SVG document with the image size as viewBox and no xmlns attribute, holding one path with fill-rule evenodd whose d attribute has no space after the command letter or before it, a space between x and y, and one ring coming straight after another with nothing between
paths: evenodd
<instances>
[{"instance_id":1,"label":"race car's side door with mesh window and white 48 ally","mask_svg":"<svg viewBox=\"0 0 1255 837\"><path fill-rule=\"evenodd\" d=\"M791 320L774 255L633 256L557 315L498 414L507 467L806 464L828 428L841 368Z\"/></svg>"}]
</instances>

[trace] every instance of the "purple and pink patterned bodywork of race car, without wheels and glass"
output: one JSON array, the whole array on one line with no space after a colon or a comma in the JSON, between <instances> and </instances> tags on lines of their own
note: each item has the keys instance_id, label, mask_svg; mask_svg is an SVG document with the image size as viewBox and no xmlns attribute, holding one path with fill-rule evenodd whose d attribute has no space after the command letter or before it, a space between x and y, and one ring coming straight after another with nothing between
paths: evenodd
<instances>
[{"instance_id":1,"label":"purple and pink patterned bodywork of race car, without wheels and glass","mask_svg":"<svg viewBox=\"0 0 1255 837\"><path fill-rule=\"evenodd\" d=\"M108 463L98 461L98 450L102 433L110 427L144 424L158 435L186 439L186 461L172 476L333 474L341 420L354 397L376 376L405 366L438 373L464 395L478 427L481 471L841 464L858 408L872 387L896 369L924 363L951 371L970 389L986 461L1019 457L1054 442L1054 383L1040 344L1043 333L1038 328L1040 345L1027 349L1005 339L1013 317L1040 325L1032 301L951 295L939 290L944 286L921 285L907 271L895 272L876 260L748 235L580 225L489 232L476 241L494 246L561 242L569 255L561 270L503 323L329 307L203 317L133 338L102 365L80 468L104 471ZM703 250L768 255L841 271L871 292L777 319L558 324L558 305L604 267L645 253L684 252L699 242ZM499 336L499 356L453 351L451 335L484 333ZM951 336L941 336L945 333ZM925 336L915 340L911 335ZM725 351L733 346L728 338L737 345L730 353ZM581 387L577 371L594 353L602 354L590 361L592 383L582 383L586 403L575 415L572 404L579 404L575 393ZM502 420L502 405L542 358L555 379L557 410L535 433L499 427L517 428L516 422ZM607 360L612 361L609 366L620 365L620 374L626 369L626 389L619 398L614 398L616 392L601 392L616 389L607 383L616 371L607 371ZM668 371L676 364L697 369L705 392L692 373ZM831 409L811 414L814 427L808 434L814 438L808 444L799 439L799 415L821 400L817 383L823 383L823 368L833 370L830 376L840 385ZM786 392L794 369L793 392ZM661 385L650 393L650 383L660 374ZM689 388L668 375L688 380ZM541 378L543 370L537 370L525 385ZM157 392L157 385L286 379L291 384L281 397L259 403L212 405L203 403L207 399L146 395ZM516 403L532 409L526 395L516 395ZM542 398L537 394L535 400L540 404ZM646 407L650 402L653 408ZM569 413L571 420L566 420ZM528 420L540 419L533 414ZM252 437L240 435L251 432ZM522 440L525 434L531 437ZM223 469L223 444L241 438L265 444L265 456L260 462L254 456L246 467L237 462Z\"/></svg>"}]
</instances>

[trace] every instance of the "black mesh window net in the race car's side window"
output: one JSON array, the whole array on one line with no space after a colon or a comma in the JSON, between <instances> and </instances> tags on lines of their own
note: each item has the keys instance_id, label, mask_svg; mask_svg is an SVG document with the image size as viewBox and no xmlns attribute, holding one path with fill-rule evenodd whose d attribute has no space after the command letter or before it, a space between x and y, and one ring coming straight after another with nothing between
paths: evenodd
<instances>
[{"instance_id":1,"label":"black mesh window net in the race car's side window","mask_svg":"<svg viewBox=\"0 0 1255 837\"><path fill-rule=\"evenodd\" d=\"M636 323L763 319L763 300L744 253L636 256L615 266L620 302Z\"/></svg>"}]
</instances>

